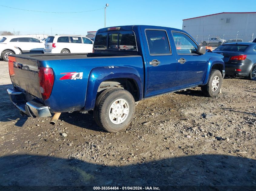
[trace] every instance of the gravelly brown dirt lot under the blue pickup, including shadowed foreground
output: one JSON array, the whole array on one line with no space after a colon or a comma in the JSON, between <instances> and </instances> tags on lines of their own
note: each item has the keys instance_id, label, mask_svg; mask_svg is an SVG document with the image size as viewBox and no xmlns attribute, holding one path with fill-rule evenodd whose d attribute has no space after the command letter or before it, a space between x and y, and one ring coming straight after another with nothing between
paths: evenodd
<instances>
[{"instance_id":1,"label":"gravelly brown dirt lot under the blue pickup, including shadowed foreground","mask_svg":"<svg viewBox=\"0 0 256 191\"><path fill-rule=\"evenodd\" d=\"M194 88L143 100L125 131L108 133L91 114L62 113L56 126L20 116L6 92L8 63L0 65L2 186L256 189L255 81L225 78L214 98Z\"/></svg>"}]
</instances>

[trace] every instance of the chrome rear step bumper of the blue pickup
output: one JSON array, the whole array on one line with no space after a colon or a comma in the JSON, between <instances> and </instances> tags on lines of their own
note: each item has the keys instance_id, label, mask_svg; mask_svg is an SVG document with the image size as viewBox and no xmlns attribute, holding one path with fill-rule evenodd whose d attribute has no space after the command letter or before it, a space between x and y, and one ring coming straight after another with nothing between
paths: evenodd
<instances>
[{"instance_id":1,"label":"chrome rear step bumper of the blue pickup","mask_svg":"<svg viewBox=\"0 0 256 191\"><path fill-rule=\"evenodd\" d=\"M30 117L50 117L52 114L49 111L49 108L42 103L39 103L37 100L33 99L26 101L24 99L24 93L16 90L15 88L7 89L10 100L23 114L27 114Z\"/></svg>"}]
</instances>

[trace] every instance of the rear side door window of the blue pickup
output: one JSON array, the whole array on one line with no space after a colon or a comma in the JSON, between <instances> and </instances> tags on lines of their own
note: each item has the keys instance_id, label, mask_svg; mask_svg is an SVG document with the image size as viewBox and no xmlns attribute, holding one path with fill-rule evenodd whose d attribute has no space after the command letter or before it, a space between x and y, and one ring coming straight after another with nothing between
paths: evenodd
<instances>
[{"instance_id":1,"label":"rear side door window of the blue pickup","mask_svg":"<svg viewBox=\"0 0 256 191\"><path fill-rule=\"evenodd\" d=\"M150 54L171 54L165 30L146 30L146 37Z\"/></svg>"}]
</instances>

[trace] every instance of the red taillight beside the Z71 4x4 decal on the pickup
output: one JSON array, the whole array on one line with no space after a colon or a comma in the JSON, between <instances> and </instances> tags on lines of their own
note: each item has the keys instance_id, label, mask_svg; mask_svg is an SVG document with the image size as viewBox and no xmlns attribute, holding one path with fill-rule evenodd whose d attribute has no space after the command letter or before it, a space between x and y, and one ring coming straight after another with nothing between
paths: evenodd
<instances>
[{"instance_id":1,"label":"red taillight beside the Z71 4x4 decal on the pickup","mask_svg":"<svg viewBox=\"0 0 256 191\"><path fill-rule=\"evenodd\" d=\"M54 82L52 68L38 67L38 81L42 98L47 100L51 95Z\"/></svg>"}]
</instances>

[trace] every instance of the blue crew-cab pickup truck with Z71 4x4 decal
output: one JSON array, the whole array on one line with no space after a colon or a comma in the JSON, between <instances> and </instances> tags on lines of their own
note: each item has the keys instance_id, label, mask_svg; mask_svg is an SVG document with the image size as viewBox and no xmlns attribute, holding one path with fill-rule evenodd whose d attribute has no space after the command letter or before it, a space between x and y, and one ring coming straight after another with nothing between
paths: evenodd
<instances>
[{"instance_id":1,"label":"blue crew-cab pickup truck with Z71 4x4 decal","mask_svg":"<svg viewBox=\"0 0 256 191\"><path fill-rule=\"evenodd\" d=\"M78 37L79 38L79 37ZM201 86L216 96L223 56L206 52L185 31L158 26L119 26L97 31L93 53L9 56L12 103L22 115L52 117L93 110L108 132L125 129L135 103Z\"/></svg>"}]
</instances>

